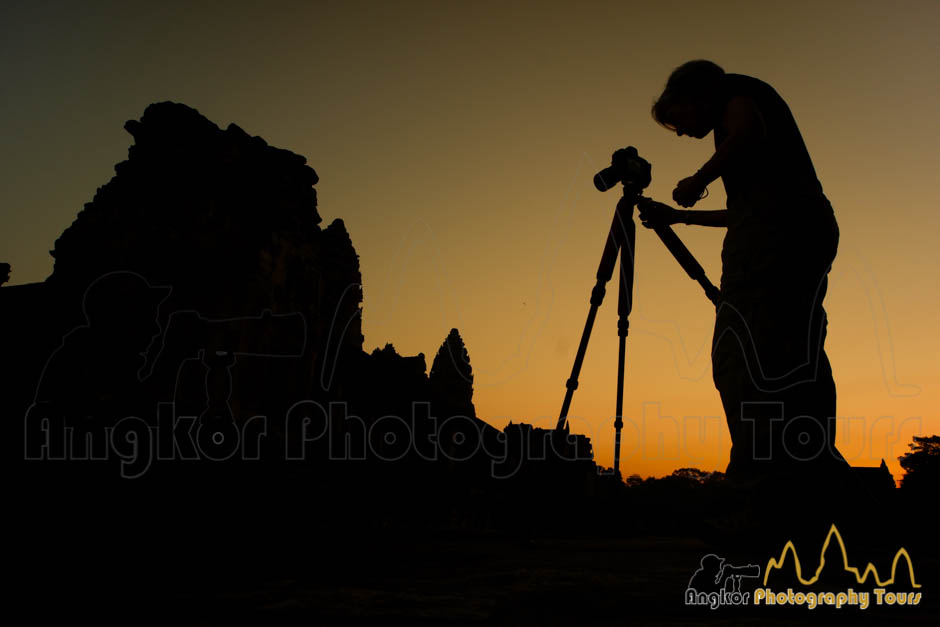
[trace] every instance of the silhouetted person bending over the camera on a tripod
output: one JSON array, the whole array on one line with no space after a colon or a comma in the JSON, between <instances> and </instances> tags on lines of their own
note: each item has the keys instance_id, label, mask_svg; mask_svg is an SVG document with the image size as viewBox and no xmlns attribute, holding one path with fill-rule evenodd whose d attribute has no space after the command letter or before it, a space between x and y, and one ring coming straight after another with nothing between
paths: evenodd
<instances>
[{"instance_id":1,"label":"silhouetted person bending over the camera on a tripod","mask_svg":"<svg viewBox=\"0 0 940 627\"><path fill-rule=\"evenodd\" d=\"M847 468L835 449L836 392L823 349L839 229L789 107L767 83L700 60L673 71L652 114L679 136L715 135L714 155L677 183L673 199L692 207L721 178L726 210L637 206L648 228L728 229L712 340L732 441L727 475Z\"/></svg>"}]
</instances>

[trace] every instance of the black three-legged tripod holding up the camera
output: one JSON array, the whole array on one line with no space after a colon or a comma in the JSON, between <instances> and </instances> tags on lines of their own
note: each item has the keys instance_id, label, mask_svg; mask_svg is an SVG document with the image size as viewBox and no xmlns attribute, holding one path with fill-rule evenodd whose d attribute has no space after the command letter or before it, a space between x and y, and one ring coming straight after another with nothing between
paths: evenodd
<instances>
[{"instance_id":1,"label":"black three-legged tripod holding up the camera","mask_svg":"<svg viewBox=\"0 0 940 627\"><path fill-rule=\"evenodd\" d=\"M565 400L561 406L561 415L558 417L556 431L565 431L568 422L568 409L571 406L571 399L574 391L578 389L578 376L581 373L581 364L584 362L584 355L587 352L588 340L591 337L591 329L594 328L594 319L597 317L597 309L604 302L604 295L607 292L607 283L614 274L614 262L617 260L617 253L620 253L620 292L617 301L617 336L619 338L618 364L617 364L617 418L614 422L614 474L620 474L620 432L623 429L623 374L626 361L626 340L630 328L630 311L633 308L633 261L636 243L636 225L633 222L633 209L637 202L643 198L640 195L642 188L632 184L623 186L623 196L617 202L617 208L614 210L614 218L610 225L610 231L607 234L607 241L604 244L604 252L601 255L601 263L597 268L597 283L591 291L591 309L588 312L587 322L584 324L584 332L581 334L581 344L578 346L578 353L574 359L574 366L571 369L571 376L565 383L567 391ZM667 225L655 226L653 230L659 239L665 244L669 252L672 253L679 265L686 273L698 282L705 290L705 295L717 307L719 292L708 277L705 276L705 270L696 261L689 249L685 247L682 240Z\"/></svg>"}]
</instances>

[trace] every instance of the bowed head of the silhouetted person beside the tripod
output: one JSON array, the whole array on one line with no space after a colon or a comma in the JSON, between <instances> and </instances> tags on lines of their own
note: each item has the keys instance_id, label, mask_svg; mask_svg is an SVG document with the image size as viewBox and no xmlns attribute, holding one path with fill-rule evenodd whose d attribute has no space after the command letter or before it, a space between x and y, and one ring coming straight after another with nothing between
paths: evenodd
<instances>
[{"instance_id":1,"label":"bowed head of the silhouetted person beside the tripod","mask_svg":"<svg viewBox=\"0 0 940 627\"><path fill-rule=\"evenodd\" d=\"M683 63L669 76L666 88L653 103L653 119L661 126L702 139L714 128L717 95L725 71L711 61Z\"/></svg>"}]
</instances>

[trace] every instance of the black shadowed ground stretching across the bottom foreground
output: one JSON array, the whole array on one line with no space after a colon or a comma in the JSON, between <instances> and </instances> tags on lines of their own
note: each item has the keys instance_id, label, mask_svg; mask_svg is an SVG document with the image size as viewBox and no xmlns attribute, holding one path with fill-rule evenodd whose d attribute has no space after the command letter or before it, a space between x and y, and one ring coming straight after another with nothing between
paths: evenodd
<instances>
[{"instance_id":1,"label":"black shadowed ground stretching across the bottom foreground","mask_svg":"<svg viewBox=\"0 0 940 627\"><path fill-rule=\"evenodd\" d=\"M853 498L852 508L831 511L825 508L834 494L823 491L815 499L812 492L789 498L769 492L763 505L755 500L760 493L743 498L700 488L581 500L559 498L553 489L474 500L474 492L457 498L452 483L441 483L406 498L393 489L402 477L382 476L336 490L322 480L296 480L280 490L277 482L252 488L247 480L225 484L216 476L200 484L192 474L146 489L120 482L101 492L61 475L54 483L24 484L8 514L12 596L28 617L17 622L938 624L940 552L927 495L880 503ZM479 515L484 511L489 516ZM920 604L877 606L872 599L865 610L685 604L689 581L709 554L727 565L758 565L763 574L792 540L804 575L812 573L834 522L848 563L864 569L870 562L882 580L904 547ZM772 572L769 585L804 592L874 587L859 585L841 560L832 542L816 587L800 587L792 564L790 575ZM895 576L886 589L912 589L905 561ZM742 580L741 589L753 593L756 583Z\"/></svg>"}]
</instances>

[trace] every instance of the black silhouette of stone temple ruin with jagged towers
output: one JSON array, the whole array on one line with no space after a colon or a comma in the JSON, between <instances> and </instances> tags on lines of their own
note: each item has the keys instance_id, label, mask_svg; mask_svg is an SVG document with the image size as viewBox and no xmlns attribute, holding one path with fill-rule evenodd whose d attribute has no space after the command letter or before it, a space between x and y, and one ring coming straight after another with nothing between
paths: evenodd
<instances>
[{"instance_id":1,"label":"black silhouette of stone temple ruin with jagged towers","mask_svg":"<svg viewBox=\"0 0 940 627\"><path fill-rule=\"evenodd\" d=\"M362 350L359 258L342 220L321 226L304 157L172 102L125 129L127 160L55 242L52 274L0 288L3 403L27 417L9 424L36 440L28 455L76 442L88 453L129 416L150 426L195 417L226 442L226 425L267 417L262 457L394 458L419 474L435 457L470 483L493 474L510 435L526 448L476 416L457 329L430 369L391 344ZM436 442L437 455L405 442L388 416L408 419L408 437ZM73 441L52 442L40 424L72 429ZM197 444L233 453L214 436Z\"/></svg>"}]
</instances>

